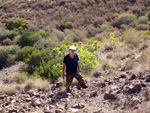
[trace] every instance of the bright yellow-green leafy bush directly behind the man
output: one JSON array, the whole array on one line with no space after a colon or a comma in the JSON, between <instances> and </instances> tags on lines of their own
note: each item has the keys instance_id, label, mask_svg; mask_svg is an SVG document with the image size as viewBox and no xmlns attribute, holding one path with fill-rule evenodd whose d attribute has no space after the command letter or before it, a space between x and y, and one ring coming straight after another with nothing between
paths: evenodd
<instances>
[{"instance_id":1,"label":"bright yellow-green leafy bush directly behind the man","mask_svg":"<svg viewBox=\"0 0 150 113\"><path fill-rule=\"evenodd\" d=\"M54 47L53 52L56 53L56 58L62 58L64 55L68 54L68 48L72 43L61 43L59 47ZM93 66L97 64L96 55L93 53L100 48L98 41L90 40L85 46L82 42L75 42L74 45L77 48L77 54L80 58L80 65L82 72L88 73L91 71Z\"/></svg>"}]
</instances>

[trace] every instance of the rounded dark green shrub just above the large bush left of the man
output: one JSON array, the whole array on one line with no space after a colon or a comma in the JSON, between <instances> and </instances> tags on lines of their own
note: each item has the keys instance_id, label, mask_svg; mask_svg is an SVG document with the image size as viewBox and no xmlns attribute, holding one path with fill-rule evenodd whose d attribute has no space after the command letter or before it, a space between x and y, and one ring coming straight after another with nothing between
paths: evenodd
<instances>
[{"instance_id":1,"label":"rounded dark green shrub just above the large bush left of the man","mask_svg":"<svg viewBox=\"0 0 150 113\"><path fill-rule=\"evenodd\" d=\"M35 42L37 42L41 38L41 35L34 32L25 32L21 35L18 40L18 44L21 47L24 46L33 46Z\"/></svg>"}]
</instances>

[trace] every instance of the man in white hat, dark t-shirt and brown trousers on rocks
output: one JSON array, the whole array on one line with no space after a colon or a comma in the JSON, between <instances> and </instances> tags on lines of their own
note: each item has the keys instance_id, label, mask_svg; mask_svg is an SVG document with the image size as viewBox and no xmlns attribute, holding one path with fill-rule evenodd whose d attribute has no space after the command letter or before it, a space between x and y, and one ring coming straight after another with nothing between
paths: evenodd
<instances>
[{"instance_id":1,"label":"man in white hat, dark t-shirt and brown trousers on rocks","mask_svg":"<svg viewBox=\"0 0 150 113\"><path fill-rule=\"evenodd\" d=\"M67 54L63 60L62 76L64 79L65 77L64 70L66 66L66 91L70 91L70 85L74 77L77 79L77 81L79 82L82 88L87 88L85 81L83 80L82 76L79 73L81 72L79 66L79 57L75 53L75 51L76 51L76 47L74 45L70 46L69 54Z\"/></svg>"}]
</instances>

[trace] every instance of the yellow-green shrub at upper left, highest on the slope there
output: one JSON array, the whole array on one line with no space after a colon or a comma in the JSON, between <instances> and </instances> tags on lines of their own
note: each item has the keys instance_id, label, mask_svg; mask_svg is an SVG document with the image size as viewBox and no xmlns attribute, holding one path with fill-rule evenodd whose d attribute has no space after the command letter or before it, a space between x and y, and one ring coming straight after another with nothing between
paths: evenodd
<instances>
[{"instance_id":1,"label":"yellow-green shrub at upper left, highest on the slope there","mask_svg":"<svg viewBox=\"0 0 150 113\"><path fill-rule=\"evenodd\" d=\"M23 18L14 18L12 20L10 20L7 25L6 28L8 30L16 30L16 31L20 31L26 28L26 24L27 21Z\"/></svg>"}]
</instances>

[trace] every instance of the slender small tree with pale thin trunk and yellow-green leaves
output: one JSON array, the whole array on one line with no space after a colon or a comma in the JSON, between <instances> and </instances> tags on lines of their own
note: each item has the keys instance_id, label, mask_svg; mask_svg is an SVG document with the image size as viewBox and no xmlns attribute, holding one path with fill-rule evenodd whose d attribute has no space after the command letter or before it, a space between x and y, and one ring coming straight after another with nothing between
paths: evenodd
<instances>
[{"instance_id":1,"label":"slender small tree with pale thin trunk and yellow-green leaves","mask_svg":"<svg viewBox=\"0 0 150 113\"><path fill-rule=\"evenodd\" d=\"M115 61L115 64L116 64L116 52L115 52L115 43L116 41L121 41L122 40L122 37L117 37L117 38L114 38L115 34L113 32L110 33L110 41L108 44L110 44L113 48L113 52L114 52L114 61Z\"/></svg>"}]
</instances>

